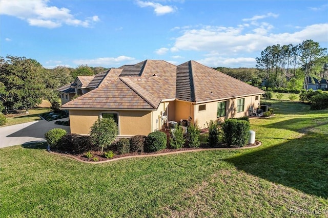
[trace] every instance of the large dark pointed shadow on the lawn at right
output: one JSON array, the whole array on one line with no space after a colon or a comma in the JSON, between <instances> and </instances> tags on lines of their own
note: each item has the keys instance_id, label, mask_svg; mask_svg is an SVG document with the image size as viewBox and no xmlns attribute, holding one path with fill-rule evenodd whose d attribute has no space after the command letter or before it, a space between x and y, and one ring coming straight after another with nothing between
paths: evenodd
<instances>
[{"instance_id":1,"label":"large dark pointed shadow on the lawn at right","mask_svg":"<svg viewBox=\"0 0 328 218\"><path fill-rule=\"evenodd\" d=\"M327 142L327 134L308 133L225 161L265 180L328 198Z\"/></svg>"}]
</instances>

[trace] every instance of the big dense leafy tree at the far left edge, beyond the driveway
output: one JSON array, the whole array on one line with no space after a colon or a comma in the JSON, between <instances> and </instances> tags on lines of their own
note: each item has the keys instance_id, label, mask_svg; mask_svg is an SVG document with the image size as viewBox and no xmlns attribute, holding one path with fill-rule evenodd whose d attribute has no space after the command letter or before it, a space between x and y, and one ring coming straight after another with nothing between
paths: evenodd
<instances>
[{"instance_id":1,"label":"big dense leafy tree at the far left edge, beyond the driveway","mask_svg":"<svg viewBox=\"0 0 328 218\"><path fill-rule=\"evenodd\" d=\"M34 59L26 57L7 56L0 58L0 82L5 86L1 100L6 110L11 107L29 108L42 102L45 94L45 84Z\"/></svg>"}]
</instances>

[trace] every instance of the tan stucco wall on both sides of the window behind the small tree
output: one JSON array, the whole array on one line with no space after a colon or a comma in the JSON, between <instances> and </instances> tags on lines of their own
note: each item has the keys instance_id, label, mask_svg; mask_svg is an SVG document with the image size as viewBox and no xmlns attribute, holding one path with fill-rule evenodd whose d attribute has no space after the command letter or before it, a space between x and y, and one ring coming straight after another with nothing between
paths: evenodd
<instances>
[{"instance_id":1,"label":"tan stucco wall on both sides of the window behind the small tree","mask_svg":"<svg viewBox=\"0 0 328 218\"><path fill-rule=\"evenodd\" d=\"M106 111L70 110L71 133L87 135L90 127ZM118 111L119 136L148 135L151 111Z\"/></svg>"}]
</instances>

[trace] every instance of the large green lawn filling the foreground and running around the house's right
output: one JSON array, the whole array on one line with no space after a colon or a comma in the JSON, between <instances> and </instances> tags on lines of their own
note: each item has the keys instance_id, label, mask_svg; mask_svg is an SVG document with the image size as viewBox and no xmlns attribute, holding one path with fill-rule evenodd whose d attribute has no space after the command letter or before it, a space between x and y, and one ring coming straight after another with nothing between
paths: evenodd
<instances>
[{"instance_id":1,"label":"large green lawn filling the foreground and running around the house's right","mask_svg":"<svg viewBox=\"0 0 328 218\"><path fill-rule=\"evenodd\" d=\"M328 213L328 110L270 101L258 148L85 164L0 149L0 217L304 217ZM303 214L291 214L298 210ZM328 214L306 215L327 217Z\"/></svg>"}]
</instances>

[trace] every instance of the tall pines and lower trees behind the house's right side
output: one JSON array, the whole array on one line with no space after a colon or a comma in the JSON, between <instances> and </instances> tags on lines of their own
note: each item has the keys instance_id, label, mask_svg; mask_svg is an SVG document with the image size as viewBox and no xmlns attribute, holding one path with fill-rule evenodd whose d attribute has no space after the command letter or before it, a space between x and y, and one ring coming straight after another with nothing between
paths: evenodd
<instances>
[{"instance_id":1,"label":"tall pines and lower trees behind the house's right side","mask_svg":"<svg viewBox=\"0 0 328 218\"><path fill-rule=\"evenodd\" d=\"M256 68L215 68L249 84L267 88L307 89L309 78L328 78L327 49L311 39L299 45L268 46Z\"/></svg>"}]
</instances>

